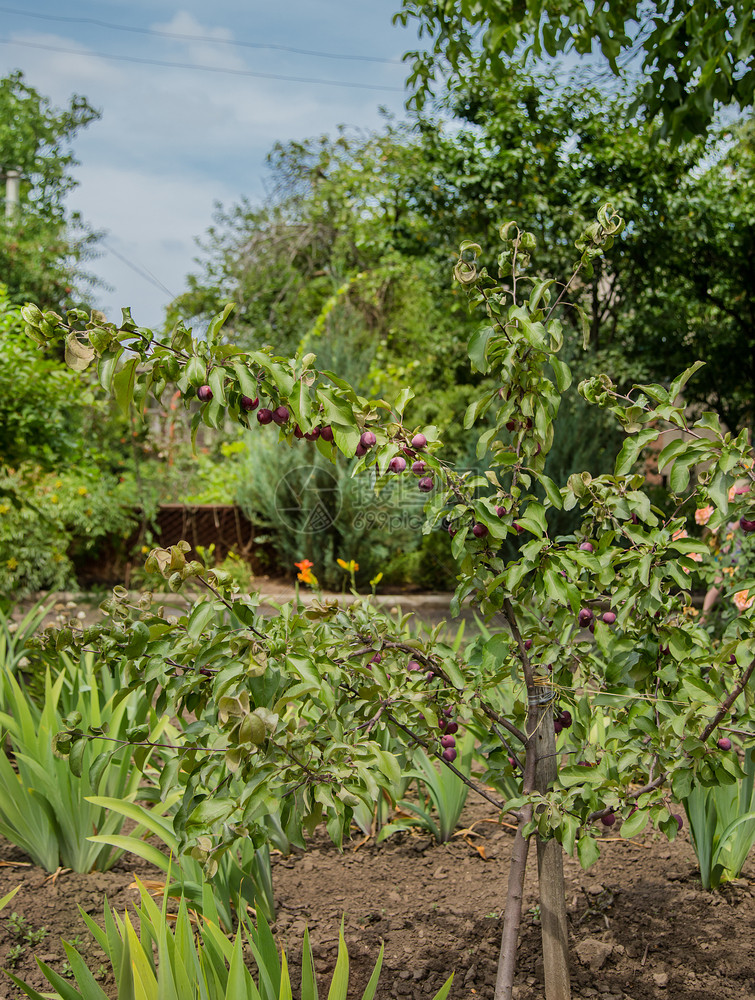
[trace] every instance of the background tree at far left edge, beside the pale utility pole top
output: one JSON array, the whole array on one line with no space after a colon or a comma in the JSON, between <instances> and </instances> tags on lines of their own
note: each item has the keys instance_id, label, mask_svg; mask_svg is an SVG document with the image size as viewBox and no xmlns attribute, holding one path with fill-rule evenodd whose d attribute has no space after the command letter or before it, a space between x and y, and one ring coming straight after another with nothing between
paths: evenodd
<instances>
[{"instance_id":1,"label":"background tree at far left edge, beside the pale utility pole top","mask_svg":"<svg viewBox=\"0 0 755 1000\"><path fill-rule=\"evenodd\" d=\"M20 72L0 80L0 171L21 174L18 210L6 218L3 206L0 217L0 273L12 302L59 309L95 283L82 265L98 235L64 202L76 186L71 142L98 118L76 95L68 107L53 107ZM0 195L4 201L4 183Z\"/></svg>"}]
</instances>

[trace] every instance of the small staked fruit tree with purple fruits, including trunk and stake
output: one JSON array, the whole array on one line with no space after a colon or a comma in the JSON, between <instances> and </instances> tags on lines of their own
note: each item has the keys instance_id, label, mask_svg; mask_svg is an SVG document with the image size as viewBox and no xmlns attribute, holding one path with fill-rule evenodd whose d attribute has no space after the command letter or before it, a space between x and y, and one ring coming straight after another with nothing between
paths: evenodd
<instances>
[{"instance_id":1,"label":"small staked fruit tree with purple fruits, including trunk and stake","mask_svg":"<svg viewBox=\"0 0 755 1000\"><path fill-rule=\"evenodd\" d=\"M186 720L176 745L157 748L160 786L164 794L183 790L175 825L210 874L234 839L261 842L271 815L299 842L324 819L340 844L351 810L398 784L413 747L455 769L448 737L472 728L487 771L484 785L465 780L518 824L496 1000L512 995L530 844L546 997L564 1000L564 853L589 866L610 825L622 837L655 827L673 838L672 802L694 782L736 781L737 755L721 740L741 742L752 732L752 611L714 643L691 603L696 557L706 547L687 536L686 513L710 505L713 528L755 518L746 494L729 499L737 480L753 480L746 434L725 432L712 413L691 419L681 402L698 365L666 386L620 390L607 375L582 382L585 404L610 410L625 432L615 468L560 485L544 472L572 378L559 357L562 307L579 298L593 260L622 227L610 206L602 208L563 284L528 273L535 240L514 222L501 228L497 278L480 266L478 245L462 245L455 278L483 316L469 358L485 378L465 418L470 431L485 418L477 455L487 471L479 476L444 462L435 428L407 422L410 388L392 403L368 400L319 370L314 355L241 352L221 336L230 307L203 338L179 325L165 341L128 311L120 325L99 314L63 320L33 306L24 313L39 343L65 337L74 368L96 364L124 409L143 407L150 394L160 400L170 383L192 413L194 434L201 422L217 427L231 418L249 433L277 433L281 445L357 455L355 474L374 475L378 489L400 475L427 494L424 530L446 525L459 562L452 609L471 602L504 623L467 656L439 630L408 637L401 621L366 601L295 602L264 618L254 594L235 593L220 571L189 561L186 543L148 558L171 590L189 581L201 588L185 614L171 617L151 595L132 600L116 588L101 623L72 624L39 641L119 661L128 690L140 690L156 713ZM674 506L664 515L633 469L669 427L678 434L659 465L671 467ZM704 470L694 483L693 469ZM561 509L574 512L575 528L554 537L549 516ZM502 554L507 538L518 545L515 558ZM74 769L86 738L73 723L58 735ZM143 765L155 749L146 730L131 732L129 742ZM514 777L518 794L501 795Z\"/></svg>"}]
</instances>

